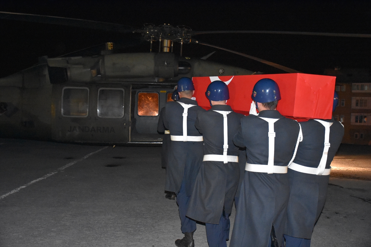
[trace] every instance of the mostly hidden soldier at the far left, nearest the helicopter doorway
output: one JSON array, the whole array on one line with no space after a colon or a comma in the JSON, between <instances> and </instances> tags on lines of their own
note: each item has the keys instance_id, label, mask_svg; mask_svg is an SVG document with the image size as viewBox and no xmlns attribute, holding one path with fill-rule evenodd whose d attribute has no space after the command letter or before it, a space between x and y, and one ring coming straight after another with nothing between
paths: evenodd
<instances>
[{"instance_id":1,"label":"mostly hidden soldier at the far left, nearest the helicopter doorway","mask_svg":"<svg viewBox=\"0 0 371 247\"><path fill-rule=\"evenodd\" d=\"M173 94L171 94L171 99L173 101L179 100L179 95L178 95L177 90L174 90ZM161 109L160 116L158 117L157 132L159 134L165 134L164 137L162 137L161 167L166 169L169 146L170 146L170 131L166 129L164 126L164 114L165 114L165 107ZM175 200L174 192L170 192L170 191L165 191L165 192L166 192L165 198L168 198L169 200Z\"/></svg>"}]
</instances>

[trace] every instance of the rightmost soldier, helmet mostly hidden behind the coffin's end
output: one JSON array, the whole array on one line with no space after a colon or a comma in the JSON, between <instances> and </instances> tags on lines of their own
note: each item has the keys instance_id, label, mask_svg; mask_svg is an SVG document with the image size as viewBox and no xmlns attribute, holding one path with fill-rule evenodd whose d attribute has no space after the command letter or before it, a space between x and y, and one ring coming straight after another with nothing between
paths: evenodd
<instances>
[{"instance_id":1,"label":"rightmost soldier, helmet mostly hidden behind the coffin's end","mask_svg":"<svg viewBox=\"0 0 371 247\"><path fill-rule=\"evenodd\" d=\"M335 91L332 111L339 98ZM289 166L290 198L284 238L287 247L310 246L314 224L325 205L331 161L344 136L344 126L334 120L301 123L303 141Z\"/></svg>"}]
</instances>

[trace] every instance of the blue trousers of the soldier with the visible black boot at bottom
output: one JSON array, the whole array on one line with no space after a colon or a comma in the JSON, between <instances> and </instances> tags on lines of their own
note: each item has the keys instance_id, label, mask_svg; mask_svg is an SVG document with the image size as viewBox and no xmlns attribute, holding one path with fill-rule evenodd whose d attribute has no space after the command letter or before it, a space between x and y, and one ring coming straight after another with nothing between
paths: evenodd
<instances>
[{"instance_id":1,"label":"blue trousers of the soldier with the visible black boot at bottom","mask_svg":"<svg viewBox=\"0 0 371 247\"><path fill-rule=\"evenodd\" d=\"M180 186L180 191L177 194L177 203L181 224L180 229L182 233L193 233L194 231L196 231L196 221L191 220L190 218L185 216L185 214L187 213L189 200L190 196L187 196L187 194L185 193L185 179L183 177L183 181Z\"/></svg>"}]
</instances>

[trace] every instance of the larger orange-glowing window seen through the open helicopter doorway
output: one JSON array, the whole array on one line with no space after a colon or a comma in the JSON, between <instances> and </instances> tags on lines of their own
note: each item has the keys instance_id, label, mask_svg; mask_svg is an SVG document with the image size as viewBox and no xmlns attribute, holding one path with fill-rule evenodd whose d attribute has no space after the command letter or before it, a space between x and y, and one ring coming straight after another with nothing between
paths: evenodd
<instances>
[{"instance_id":1,"label":"larger orange-glowing window seen through the open helicopter doorway","mask_svg":"<svg viewBox=\"0 0 371 247\"><path fill-rule=\"evenodd\" d=\"M158 115L158 93L138 93L138 116Z\"/></svg>"}]
</instances>

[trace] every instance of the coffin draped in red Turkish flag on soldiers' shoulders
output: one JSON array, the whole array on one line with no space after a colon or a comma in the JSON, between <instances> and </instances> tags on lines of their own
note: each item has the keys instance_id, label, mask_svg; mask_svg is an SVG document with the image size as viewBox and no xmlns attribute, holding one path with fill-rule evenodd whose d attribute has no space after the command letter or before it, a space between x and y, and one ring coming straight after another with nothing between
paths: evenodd
<instances>
[{"instance_id":1,"label":"coffin draped in red Turkish flag on soldiers' shoulders","mask_svg":"<svg viewBox=\"0 0 371 247\"><path fill-rule=\"evenodd\" d=\"M293 119L331 119L335 90L334 76L314 74L264 74L252 76L211 76L193 77L197 103L204 109L210 109L205 96L207 86L212 81L224 81L229 88L230 99L227 104L238 113L248 115L252 103L251 94L257 81L270 78L279 86L281 100L277 110Z\"/></svg>"}]
</instances>

